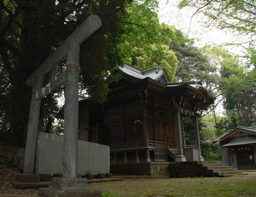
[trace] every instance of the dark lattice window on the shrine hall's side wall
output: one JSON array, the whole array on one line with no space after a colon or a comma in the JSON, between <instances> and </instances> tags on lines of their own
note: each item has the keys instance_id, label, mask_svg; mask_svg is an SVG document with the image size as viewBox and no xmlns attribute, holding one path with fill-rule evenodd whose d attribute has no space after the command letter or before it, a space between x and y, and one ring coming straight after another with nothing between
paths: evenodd
<instances>
[{"instance_id":1,"label":"dark lattice window on the shrine hall's side wall","mask_svg":"<svg viewBox=\"0 0 256 197\"><path fill-rule=\"evenodd\" d=\"M143 140L142 118L125 121L125 142Z\"/></svg>"}]
</instances>

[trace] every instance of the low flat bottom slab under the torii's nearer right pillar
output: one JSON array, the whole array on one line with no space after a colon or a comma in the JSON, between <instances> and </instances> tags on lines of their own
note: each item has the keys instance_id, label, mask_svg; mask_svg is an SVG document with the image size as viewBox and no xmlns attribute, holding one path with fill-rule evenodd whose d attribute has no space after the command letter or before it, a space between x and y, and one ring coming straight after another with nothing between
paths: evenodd
<instances>
[{"instance_id":1,"label":"low flat bottom slab under the torii's nearer right pillar","mask_svg":"<svg viewBox=\"0 0 256 197\"><path fill-rule=\"evenodd\" d=\"M38 194L46 197L102 197L102 192L95 189L57 190L53 188L39 188Z\"/></svg>"}]
</instances>

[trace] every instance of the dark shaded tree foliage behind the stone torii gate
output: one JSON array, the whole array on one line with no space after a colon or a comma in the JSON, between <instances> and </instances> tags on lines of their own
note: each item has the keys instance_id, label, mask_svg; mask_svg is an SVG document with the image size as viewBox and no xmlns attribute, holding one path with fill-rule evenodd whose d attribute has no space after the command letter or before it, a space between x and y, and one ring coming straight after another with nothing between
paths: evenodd
<instances>
[{"instance_id":1,"label":"dark shaded tree foliage behind the stone torii gate","mask_svg":"<svg viewBox=\"0 0 256 197\"><path fill-rule=\"evenodd\" d=\"M0 99L1 134L9 132L9 137L22 144L31 99L27 77L90 14L100 16L102 27L81 46L82 82L90 96L100 103L104 101L108 71L123 63L118 46L129 3L130 0L0 1L0 91L4 95ZM58 110L55 99L56 95L52 95L42 102L45 131L50 130Z\"/></svg>"}]
</instances>

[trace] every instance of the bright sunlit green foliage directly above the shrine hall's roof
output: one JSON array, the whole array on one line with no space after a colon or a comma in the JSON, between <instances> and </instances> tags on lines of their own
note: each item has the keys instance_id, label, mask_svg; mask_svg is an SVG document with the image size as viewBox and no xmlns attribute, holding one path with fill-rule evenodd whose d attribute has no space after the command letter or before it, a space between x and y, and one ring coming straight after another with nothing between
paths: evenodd
<instances>
[{"instance_id":1,"label":"bright sunlit green foliage directly above the shrine hall's roof","mask_svg":"<svg viewBox=\"0 0 256 197\"><path fill-rule=\"evenodd\" d=\"M175 29L160 24L155 12L157 3L148 6L146 2L137 2L128 7L128 18L123 24L123 56L125 61L150 69L162 65L168 79L176 81L177 58L169 45L175 38Z\"/></svg>"}]
</instances>

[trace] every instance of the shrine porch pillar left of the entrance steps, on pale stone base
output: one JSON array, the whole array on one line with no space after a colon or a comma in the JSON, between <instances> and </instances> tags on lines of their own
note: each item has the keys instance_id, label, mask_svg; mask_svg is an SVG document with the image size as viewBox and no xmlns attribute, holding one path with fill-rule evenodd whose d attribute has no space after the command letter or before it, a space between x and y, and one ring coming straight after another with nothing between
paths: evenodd
<instances>
[{"instance_id":1,"label":"shrine porch pillar left of the entrance steps, on pale stone base","mask_svg":"<svg viewBox=\"0 0 256 197\"><path fill-rule=\"evenodd\" d=\"M176 134L177 134L177 151L178 155L176 156L175 161L186 161L186 157L183 155L183 145L182 145L182 129L180 121L180 111L175 111L175 125L176 125Z\"/></svg>"}]
</instances>

